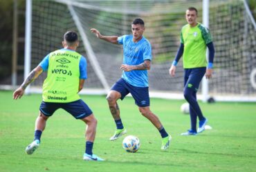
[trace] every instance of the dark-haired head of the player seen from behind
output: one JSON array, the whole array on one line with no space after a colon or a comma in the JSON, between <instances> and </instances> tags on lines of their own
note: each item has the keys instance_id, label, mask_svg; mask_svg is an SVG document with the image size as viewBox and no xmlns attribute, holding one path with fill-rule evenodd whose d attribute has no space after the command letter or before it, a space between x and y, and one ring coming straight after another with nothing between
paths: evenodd
<instances>
[{"instance_id":1,"label":"dark-haired head of the player seen from behind","mask_svg":"<svg viewBox=\"0 0 256 172\"><path fill-rule=\"evenodd\" d=\"M63 36L64 47L77 47L79 44L77 33L74 31L68 31Z\"/></svg>"}]
</instances>

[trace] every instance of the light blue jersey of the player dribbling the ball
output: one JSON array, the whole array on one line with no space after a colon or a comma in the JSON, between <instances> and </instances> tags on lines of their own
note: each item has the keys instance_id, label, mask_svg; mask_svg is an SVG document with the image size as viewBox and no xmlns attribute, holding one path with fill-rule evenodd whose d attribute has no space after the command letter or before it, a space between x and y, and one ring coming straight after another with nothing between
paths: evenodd
<instances>
[{"instance_id":1,"label":"light blue jersey of the player dribbling the ball","mask_svg":"<svg viewBox=\"0 0 256 172\"><path fill-rule=\"evenodd\" d=\"M152 48L144 36L138 43L134 43L132 35L120 36L118 37L118 43L123 45L123 64L139 65L145 60L152 61ZM149 85L147 69L123 71L122 78L136 87L148 87Z\"/></svg>"}]
</instances>

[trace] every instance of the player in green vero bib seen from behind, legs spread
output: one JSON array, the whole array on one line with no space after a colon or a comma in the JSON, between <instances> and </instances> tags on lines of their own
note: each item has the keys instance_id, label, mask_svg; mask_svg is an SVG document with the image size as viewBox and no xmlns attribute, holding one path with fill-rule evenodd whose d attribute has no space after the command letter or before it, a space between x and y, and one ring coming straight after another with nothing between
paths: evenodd
<instances>
[{"instance_id":1,"label":"player in green vero bib seen from behind, legs spread","mask_svg":"<svg viewBox=\"0 0 256 172\"><path fill-rule=\"evenodd\" d=\"M43 101L39 107L39 116L35 121L35 138L26 147L26 153L30 155L39 147L46 121L57 109L62 108L75 119L80 119L87 125L86 150L83 159L102 161L103 159L93 154L92 151L97 120L91 109L78 95L83 88L87 74L86 58L75 52L79 45L77 33L66 32L62 45L64 48L61 50L56 50L45 56L43 61L30 72L24 83L13 93L15 100L21 98L26 87L43 71L47 72L43 85Z\"/></svg>"}]
</instances>

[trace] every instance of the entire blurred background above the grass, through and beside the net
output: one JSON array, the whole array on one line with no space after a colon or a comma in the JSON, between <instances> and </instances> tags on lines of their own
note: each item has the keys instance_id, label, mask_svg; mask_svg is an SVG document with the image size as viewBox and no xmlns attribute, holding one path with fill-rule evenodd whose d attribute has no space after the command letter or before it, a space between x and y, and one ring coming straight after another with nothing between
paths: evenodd
<instances>
[{"instance_id":1,"label":"entire blurred background above the grass, through and beside the net","mask_svg":"<svg viewBox=\"0 0 256 172\"><path fill-rule=\"evenodd\" d=\"M120 71L113 72L113 69L118 69L122 63L122 48L95 39L89 29L98 28L105 35L130 34L131 21L142 17L154 58L154 67L149 71L149 88L161 92L162 96L167 92L180 94L182 62L176 78L170 78L168 69L179 47L179 32L186 24L185 10L189 6L198 8L198 21L202 23L202 3L199 0L33 0L30 69L36 67L46 54L61 48L62 34L66 30L75 30L81 38L79 52L88 57L89 62L86 87L108 89L120 77ZM250 74L256 67L256 28L252 21L255 24L256 0L210 0L209 9L209 28L216 49L215 76L209 83L209 96L255 98L256 86L251 84ZM26 0L0 0L0 19L3 41L0 89L13 89L24 80ZM42 74L32 86L40 87L45 77L46 74ZM256 80L256 72L253 79Z\"/></svg>"}]
</instances>

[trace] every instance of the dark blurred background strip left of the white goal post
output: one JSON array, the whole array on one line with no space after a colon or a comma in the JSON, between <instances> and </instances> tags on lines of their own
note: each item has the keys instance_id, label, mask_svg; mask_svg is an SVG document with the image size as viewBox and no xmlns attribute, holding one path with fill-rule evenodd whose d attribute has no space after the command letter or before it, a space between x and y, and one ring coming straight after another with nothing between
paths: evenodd
<instances>
[{"instance_id":1,"label":"dark blurred background strip left of the white goal post","mask_svg":"<svg viewBox=\"0 0 256 172\"><path fill-rule=\"evenodd\" d=\"M24 79L25 10L26 0L0 0L0 85L12 85L12 67L17 70L17 84Z\"/></svg>"}]
</instances>

